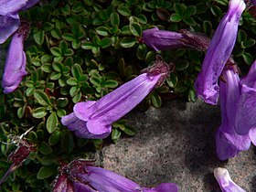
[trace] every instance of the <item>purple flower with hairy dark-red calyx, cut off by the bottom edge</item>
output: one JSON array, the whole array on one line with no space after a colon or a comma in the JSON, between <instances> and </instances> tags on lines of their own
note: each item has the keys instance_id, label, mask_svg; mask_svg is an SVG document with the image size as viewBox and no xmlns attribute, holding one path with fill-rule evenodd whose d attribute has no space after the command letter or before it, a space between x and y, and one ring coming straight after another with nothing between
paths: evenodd
<instances>
[{"instance_id":1,"label":"purple flower with hairy dark-red calyx, cut off by the bottom edge","mask_svg":"<svg viewBox=\"0 0 256 192\"><path fill-rule=\"evenodd\" d=\"M77 159L63 165L59 176L53 183L53 192L176 192L172 183L161 184L155 188L143 188L132 180L119 176L112 171L91 165L91 162Z\"/></svg>"}]
</instances>

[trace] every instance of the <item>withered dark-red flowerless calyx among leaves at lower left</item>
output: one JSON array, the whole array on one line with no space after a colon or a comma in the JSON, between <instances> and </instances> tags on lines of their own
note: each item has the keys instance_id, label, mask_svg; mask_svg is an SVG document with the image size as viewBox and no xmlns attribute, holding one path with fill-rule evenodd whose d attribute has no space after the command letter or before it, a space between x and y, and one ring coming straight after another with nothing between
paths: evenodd
<instances>
[{"instance_id":1,"label":"withered dark-red flowerless calyx among leaves at lower left","mask_svg":"<svg viewBox=\"0 0 256 192\"><path fill-rule=\"evenodd\" d=\"M26 140L21 140L12 154L8 156L8 161L13 162L9 169L6 171L5 176L0 179L0 185L5 181L5 178L15 171L27 159L30 152L35 151L33 144L27 143Z\"/></svg>"}]
</instances>

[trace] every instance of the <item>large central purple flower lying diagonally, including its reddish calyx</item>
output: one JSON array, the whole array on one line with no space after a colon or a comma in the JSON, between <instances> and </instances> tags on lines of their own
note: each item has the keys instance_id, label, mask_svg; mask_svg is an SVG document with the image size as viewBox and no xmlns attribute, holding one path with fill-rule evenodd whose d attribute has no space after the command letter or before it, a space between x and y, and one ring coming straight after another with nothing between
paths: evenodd
<instances>
[{"instance_id":1,"label":"large central purple flower lying diagonally, including its reddish calyx","mask_svg":"<svg viewBox=\"0 0 256 192\"><path fill-rule=\"evenodd\" d=\"M163 60L145 69L144 73L126 82L120 88L105 95L99 101L85 101L75 104L61 123L83 138L105 138L112 130L112 123L139 104L159 86L169 73L169 66Z\"/></svg>"}]
</instances>

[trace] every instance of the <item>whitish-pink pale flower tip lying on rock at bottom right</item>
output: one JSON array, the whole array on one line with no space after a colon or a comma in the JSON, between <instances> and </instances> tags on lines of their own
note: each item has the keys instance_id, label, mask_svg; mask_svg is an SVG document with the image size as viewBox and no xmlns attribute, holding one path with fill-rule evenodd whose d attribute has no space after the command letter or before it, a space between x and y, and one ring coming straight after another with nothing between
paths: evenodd
<instances>
[{"instance_id":1,"label":"whitish-pink pale flower tip lying on rock at bottom right","mask_svg":"<svg viewBox=\"0 0 256 192\"><path fill-rule=\"evenodd\" d=\"M229 171L226 168L214 169L214 176L222 192L246 192L230 178Z\"/></svg>"}]
</instances>

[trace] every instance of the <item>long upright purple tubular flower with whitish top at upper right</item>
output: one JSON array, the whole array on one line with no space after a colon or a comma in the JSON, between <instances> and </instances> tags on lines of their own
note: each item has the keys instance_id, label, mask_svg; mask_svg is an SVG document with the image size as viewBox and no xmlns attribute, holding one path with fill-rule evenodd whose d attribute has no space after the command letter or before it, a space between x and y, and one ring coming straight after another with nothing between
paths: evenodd
<instances>
[{"instance_id":1,"label":"long upright purple tubular flower with whitish top at upper right","mask_svg":"<svg viewBox=\"0 0 256 192\"><path fill-rule=\"evenodd\" d=\"M219 76L234 48L240 16L245 9L243 0L230 0L229 11L219 23L204 59L202 70L197 76L197 95L209 104L217 104Z\"/></svg>"}]
</instances>

